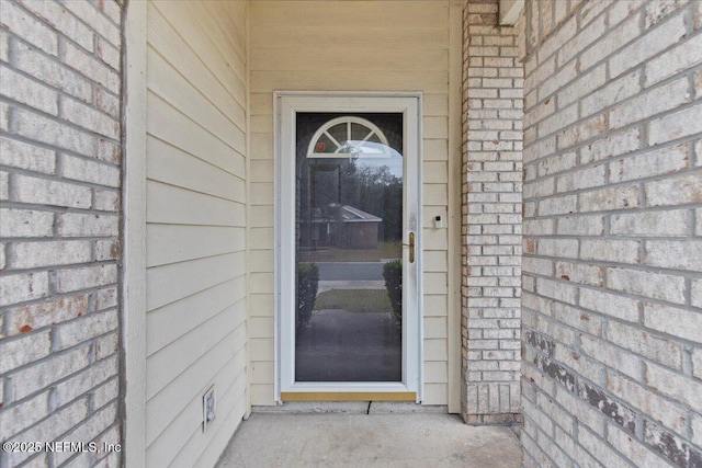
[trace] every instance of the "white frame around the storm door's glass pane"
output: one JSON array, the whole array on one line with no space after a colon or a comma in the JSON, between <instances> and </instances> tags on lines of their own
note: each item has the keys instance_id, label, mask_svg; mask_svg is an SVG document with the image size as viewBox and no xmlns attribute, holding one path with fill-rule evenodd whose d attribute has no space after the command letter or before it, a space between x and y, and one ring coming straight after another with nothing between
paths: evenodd
<instances>
[{"instance_id":1,"label":"white frame around the storm door's glass pane","mask_svg":"<svg viewBox=\"0 0 702 468\"><path fill-rule=\"evenodd\" d=\"M422 401L422 242L421 242L421 93L419 92L274 92L275 152L275 400L281 392L414 392ZM403 249L403 381L295 383L295 116L297 112L403 113L405 183L403 243L415 233L415 263ZM284 157L286 155L287 157Z\"/></svg>"}]
</instances>

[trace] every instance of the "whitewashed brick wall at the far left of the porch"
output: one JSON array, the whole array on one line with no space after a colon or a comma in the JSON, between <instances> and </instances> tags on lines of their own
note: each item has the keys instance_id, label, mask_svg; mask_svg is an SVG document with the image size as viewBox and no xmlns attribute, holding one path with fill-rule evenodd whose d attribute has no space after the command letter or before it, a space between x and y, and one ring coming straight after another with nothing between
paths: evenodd
<instances>
[{"instance_id":1,"label":"whitewashed brick wall at the far left of the porch","mask_svg":"<svg viewBox=\"0 0 702 468\"><path fill-rule=\"evenodd\" d=\"M0 437L120 442L121 8L0 5ZM116 466L7 453L0 466Z\"/></svg>"}]
</instances>

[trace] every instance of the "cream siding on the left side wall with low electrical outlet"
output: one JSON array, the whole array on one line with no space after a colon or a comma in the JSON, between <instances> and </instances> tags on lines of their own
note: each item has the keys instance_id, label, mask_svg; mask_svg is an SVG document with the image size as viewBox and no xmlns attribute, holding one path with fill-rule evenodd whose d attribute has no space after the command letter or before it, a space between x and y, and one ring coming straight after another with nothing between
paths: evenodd
<instances>
[{"instance_id":1,"label":"cream siding on the left side wall with low electrical outlet","mask_svg":"<svg viewBox=\"0 0 702 468\"><path fill-rule=\"evenodd\" d=\"M246 412L246 14L148 5L147 466L213 465Z\"/></svg>"}]
</instances>

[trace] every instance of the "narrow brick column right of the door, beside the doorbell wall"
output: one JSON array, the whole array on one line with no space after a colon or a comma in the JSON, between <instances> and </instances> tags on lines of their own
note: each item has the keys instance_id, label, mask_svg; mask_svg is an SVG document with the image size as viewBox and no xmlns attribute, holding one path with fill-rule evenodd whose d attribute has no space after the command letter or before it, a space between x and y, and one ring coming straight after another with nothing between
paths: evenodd
<instances>
[{"instance_id":1,"label":"narrow brick column right of the door, beside the doorbell wall","mask_svg":"<svg viewBox=\"0 0 702 468\"><path fill-rule=\"evenodd\" d=\"M522 87L518 30L498 1L464 9L463 418L520 412Z\"/></svg>"}]
</instances>

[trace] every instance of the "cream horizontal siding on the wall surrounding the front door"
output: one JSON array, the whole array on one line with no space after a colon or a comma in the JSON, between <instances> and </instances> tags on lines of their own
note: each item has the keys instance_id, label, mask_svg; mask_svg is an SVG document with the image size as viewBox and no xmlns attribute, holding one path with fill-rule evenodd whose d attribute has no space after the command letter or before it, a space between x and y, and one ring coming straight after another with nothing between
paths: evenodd
<instances>
[{"instance_id":1,"label":"cream horizontal siding on the wall surrounding the front door","mask_svg":"<svg viewBox=\"0 0 702 468\"><path fill-rule=\"evenodd\" d=\"M251 3L252 404L274 403L273 91L421 91L424 403L448 403L449 2ZM460 157L460 155L458 155Z\"/></svg>"}]
</instances>

